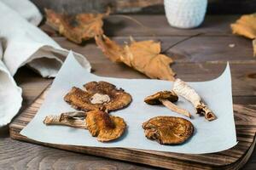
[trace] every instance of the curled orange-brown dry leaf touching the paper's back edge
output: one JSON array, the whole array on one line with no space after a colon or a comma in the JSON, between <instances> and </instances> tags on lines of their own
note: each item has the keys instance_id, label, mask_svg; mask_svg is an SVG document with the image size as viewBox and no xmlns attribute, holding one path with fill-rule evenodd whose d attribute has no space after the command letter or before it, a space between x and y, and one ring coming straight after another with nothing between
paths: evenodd
<instances>
[{"instance_id":1,"label":"curled orange-brown dry leaf touching the paper's back edge","mask_svg":"<svg viewBox=\"0 0 256 170\"><path fill-rule=\"evenodd\" d=\"M174 81L175 73L170 67L173 60L160 54L160 42L136 42L131 38L131 43L122 47L103 35L96 37L96 44L114 62L123 62L150 78Z\"/></svg>"}]
</instances>

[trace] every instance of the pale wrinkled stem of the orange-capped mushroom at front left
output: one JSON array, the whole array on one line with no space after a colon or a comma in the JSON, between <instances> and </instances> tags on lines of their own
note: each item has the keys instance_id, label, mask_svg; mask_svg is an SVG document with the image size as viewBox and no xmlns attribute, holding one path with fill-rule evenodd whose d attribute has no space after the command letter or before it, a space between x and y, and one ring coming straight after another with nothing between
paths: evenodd
<instances>
[{"instance_id":1,"label":"pale wrinkled stem of the orange-capped mushroom at front left","mask_svg":"<svg viewBox=\"0 0 256 170\"><path fill-rule=\"evenodd\" d=\"M60 116L46 116L44 124L46 125L64 125L68 127L77 127L87 129L84 112L67 112L61 113Z\"/></svg>"}]
</instances>

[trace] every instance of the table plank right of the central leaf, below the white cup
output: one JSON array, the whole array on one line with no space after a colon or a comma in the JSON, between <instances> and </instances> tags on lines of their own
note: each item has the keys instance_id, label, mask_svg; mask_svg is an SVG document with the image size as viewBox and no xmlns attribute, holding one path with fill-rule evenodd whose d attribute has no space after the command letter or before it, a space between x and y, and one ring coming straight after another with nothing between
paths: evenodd
<instances>
[{"instance_id":1,"label":"table plank right of the central leaf, below the white cup","mask_svg":"<svg viewBox=\"0 0 256 170\"><path fill-rule=\"evenodd\" d=\"M172 37L168 38L172 39ZM168 38L162 41L168 43ZM170 55L177 54L177 58L175 58L177 62L223 64L229 61L230 64L256 64L256 60L253 58L252 41L236 36L193 37L177 44L168 52L171 52Z\"/></svg>"}]
</instances>

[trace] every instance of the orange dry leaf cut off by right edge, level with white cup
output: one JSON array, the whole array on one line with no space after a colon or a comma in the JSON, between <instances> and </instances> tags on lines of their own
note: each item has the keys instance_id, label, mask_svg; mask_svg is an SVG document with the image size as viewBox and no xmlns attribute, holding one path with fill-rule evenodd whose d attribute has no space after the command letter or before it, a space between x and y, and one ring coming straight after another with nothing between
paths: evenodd
<instances>
[{"instance_id":1,"label":"orange dry leaf cut off by right edge, level with white cup","mask_svg":"<svg viewBox=\"0 0 256 170\"><path fill-rule=\"evenodd\" d=\"M244 14L235 24L231 24L233 34L250 39L256 38L256 14Z\"/></svg>"}]
</instances>

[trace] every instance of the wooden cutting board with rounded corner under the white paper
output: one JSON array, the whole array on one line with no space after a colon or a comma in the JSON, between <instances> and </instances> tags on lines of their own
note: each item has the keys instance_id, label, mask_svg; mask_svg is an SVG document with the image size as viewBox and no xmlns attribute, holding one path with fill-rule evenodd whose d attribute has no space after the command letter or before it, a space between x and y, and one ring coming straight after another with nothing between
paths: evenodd
<instances>
[{"instance_id":1,"label":"wooden cutting board with rounded corner under the white paper","mask_svg":"<svg viewBox=\"0 0 256 170\"><path fill-rule=\"evenodd\" d=\"M34 144L43 144L62 150L72 150L84 154L104 156L122 161L132 161L154 167L172 169L238 169L247 162L255 146L256 105L234 105L236 135L239 143L230 150L213 154L189 155L125 148L96 148L48 144L27 139L25 136L20 135L20 130L26 127L26 124L32 120L33 116L35 116L40 105L42 105L44 101L47 91L48 89L46 89L43 94L32 103L32 105L20 113L20 116L17 116L15 121L9 125L10 137L12 139L23 140ZM211 135L211 132L209 132L209 135Z\"/></svg>"}]
</instances>

